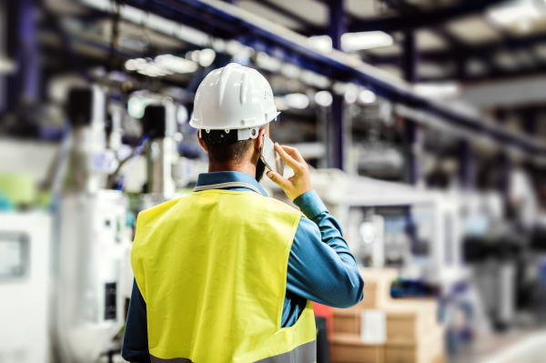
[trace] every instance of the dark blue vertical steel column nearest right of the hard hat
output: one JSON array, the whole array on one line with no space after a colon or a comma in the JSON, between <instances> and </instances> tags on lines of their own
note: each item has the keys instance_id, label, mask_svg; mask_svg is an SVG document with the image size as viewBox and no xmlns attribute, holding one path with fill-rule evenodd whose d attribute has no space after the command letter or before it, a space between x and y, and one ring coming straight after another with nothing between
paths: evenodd
<instances>
[{"instance_id":1,"label":"dark blue vertical steel column nearest right of the hard hat","mask_svg":"<svg viewBox=\"0 0 546 363\"><path fill-rule=\"evenodd\" d=\"M331 0L329 2L329 35L332 38L332 46L341 50L341 35L347 31L345 22L344 0ZM343 96L334 95L332 100L332 121L334 122L334 137L328 137L329 148L333 148L332 160L329 167L337 167L344 170L345 163L345 117L343 115Z\"/></svg>"}]
</instances>

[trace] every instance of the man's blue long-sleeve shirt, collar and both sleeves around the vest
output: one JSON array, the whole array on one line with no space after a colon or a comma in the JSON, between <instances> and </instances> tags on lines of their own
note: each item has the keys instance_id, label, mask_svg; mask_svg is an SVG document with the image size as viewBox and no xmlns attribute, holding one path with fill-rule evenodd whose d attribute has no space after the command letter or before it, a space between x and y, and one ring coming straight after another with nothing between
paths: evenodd
<instances>
[{"instance_id":1,"label":"man's blue long-sleeve shirt, collar and both sleeves around the vest","mask_svg":"<svg viewBox=\"0 0 546 363\"><path fill-rule=\"evenodd\" d=\"M228 182L245 182L258 187L253 176L236 171L200 174L197 187ZM248 191L246 187L230 190ZM315 190L294 200L307 217L299 220L290 249L287 271L287 295L282 311L282 327L291 327L298 320L307 300L334 308L349 308L363 297L364 281L360 277L355 258L343 239L341 227ZM147 341L146 302L136 282L129 305L122 356L129 362L150 362Z\"/></svg>"}]
</instances>

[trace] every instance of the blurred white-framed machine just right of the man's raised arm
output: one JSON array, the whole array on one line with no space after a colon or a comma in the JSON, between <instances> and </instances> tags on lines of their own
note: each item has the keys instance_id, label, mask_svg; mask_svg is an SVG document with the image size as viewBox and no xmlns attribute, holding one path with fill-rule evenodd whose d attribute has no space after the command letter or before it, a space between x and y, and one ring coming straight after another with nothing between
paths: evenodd
<instances>
[{"instance_id":1,"label":"blurred white-framed machine just right of the man's raised arm","mask_svg":"<svg viewBox=\"0 0 546 363\"><path fill-rule=\"evenodd\" d=\"M350 226L358 228L348 232L358 260L369 256L374 267L383 267L389 253L397 255L402 277L443 291L466 278L456 196L354 176L349 178L348 204ZM374 211L385 207L400 213L387 218Z\"/></svg>"}]
</instances>

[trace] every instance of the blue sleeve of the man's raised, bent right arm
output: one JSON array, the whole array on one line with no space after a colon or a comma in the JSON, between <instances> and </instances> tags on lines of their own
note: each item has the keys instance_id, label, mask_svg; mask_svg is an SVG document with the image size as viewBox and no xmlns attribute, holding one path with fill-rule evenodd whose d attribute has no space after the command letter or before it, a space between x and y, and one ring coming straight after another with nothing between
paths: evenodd
<instances>
[{"instance_id":1,"label":"blue sleeve of the man's raised, bent right arm","mask_svg":"<svg viewBox=\"0 0 546 363\"><path fill-rule=\"evenodd\" d=\"M349 308L363 297L364 281L336 218L315 190L294 200L301 218L288 257L287 289L319 304Z\"/></svg>"}]
</instances>

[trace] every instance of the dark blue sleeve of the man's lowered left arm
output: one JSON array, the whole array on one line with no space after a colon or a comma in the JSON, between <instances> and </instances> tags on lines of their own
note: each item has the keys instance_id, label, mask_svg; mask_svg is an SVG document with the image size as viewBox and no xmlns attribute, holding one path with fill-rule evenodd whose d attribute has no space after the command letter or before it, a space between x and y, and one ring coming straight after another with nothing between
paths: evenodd
<instances>
[{"instance_id":1,"label":"dark blue sleeve of the man's lowered left arm","mask_svg":"<svg viewBox=\"0 0 546 363\"><path fill-rule=\"evenodd\" d=\"M135 280L133 281L121 357L131 363L150 362L150 352L147 344L146 301L140 294Z\"/></svg>"}]
</instances>

